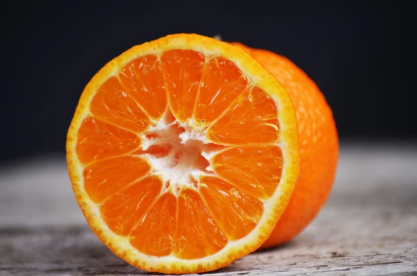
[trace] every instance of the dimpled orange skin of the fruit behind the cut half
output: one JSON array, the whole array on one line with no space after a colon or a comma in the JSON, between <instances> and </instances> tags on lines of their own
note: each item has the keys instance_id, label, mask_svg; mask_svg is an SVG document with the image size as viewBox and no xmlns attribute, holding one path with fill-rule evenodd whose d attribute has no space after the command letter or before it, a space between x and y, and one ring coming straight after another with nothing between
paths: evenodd
<instances>
[{"instance_id":1,"label":"dimpled orange skin of the fruit behind the cut half","mask_svg":"<svg viewBox=\"0 0 417 276\"><path fill-rule=\"evenodd\" d=\"M309 225L327 201L336 176L338 133L322 92L297 65L271 51L245 49L288 91L295 106L300 139L300 176L277 226L260 249L293 239Z\"/></svg>"}]
</instances>

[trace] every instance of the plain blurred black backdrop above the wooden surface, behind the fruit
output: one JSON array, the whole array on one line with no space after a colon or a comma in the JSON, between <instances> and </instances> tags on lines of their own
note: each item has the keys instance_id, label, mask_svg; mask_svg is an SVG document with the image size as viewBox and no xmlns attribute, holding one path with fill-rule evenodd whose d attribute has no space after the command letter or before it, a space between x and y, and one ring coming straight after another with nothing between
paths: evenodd
<instances>
[{"instance_id":1,"label":"plain blurred black backdrop above the wooden surface, behind the fruit","mask_svg":"<svg viewBox=\"0 0 417 276\"><path fill-rule=\"evenodd\" d=\"M95 72L170 33L220 34L287 56L325 94L342 142L417 138L407 1L196 2L3 2L0 161L63 154Z\"/></svg>"}]
</instances>

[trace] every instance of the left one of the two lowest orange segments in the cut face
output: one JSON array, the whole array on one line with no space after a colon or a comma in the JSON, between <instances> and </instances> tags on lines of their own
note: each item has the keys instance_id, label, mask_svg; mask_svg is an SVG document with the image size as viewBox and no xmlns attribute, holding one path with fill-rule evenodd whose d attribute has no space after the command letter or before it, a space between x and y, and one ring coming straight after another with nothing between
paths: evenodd
<instances>
[{"instance_id":1,"label":"left one of the two lowest orange segments in the cut face","mask_svg":"<svg viewBox=\"0 0 417 276\"><path fill-rule=\"evenodd\" d=\"M177 198L172 193L161 195L131 232L131 245L152 256L170 254L174 248L176 212Z\"/></svg>"}]
</instances>

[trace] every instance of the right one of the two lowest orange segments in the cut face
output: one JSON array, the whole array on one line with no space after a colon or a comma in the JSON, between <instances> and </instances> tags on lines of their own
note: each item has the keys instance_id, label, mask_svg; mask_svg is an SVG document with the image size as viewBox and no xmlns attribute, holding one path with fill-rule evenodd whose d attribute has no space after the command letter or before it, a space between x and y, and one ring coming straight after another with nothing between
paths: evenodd
<instances>
[{"instance_id":1,"label":"right one of the two lowest orange segments in the cut face","mask_svg":"<svg viewBox=\"0 0 417 276\"><path fill-rule=\"evenodd\" d=\"M218 252L226 244L226 236L202 197L194 190L182 190L178 197L174 255L181 259L198 259Z\"/></svg>"}]
</instances>

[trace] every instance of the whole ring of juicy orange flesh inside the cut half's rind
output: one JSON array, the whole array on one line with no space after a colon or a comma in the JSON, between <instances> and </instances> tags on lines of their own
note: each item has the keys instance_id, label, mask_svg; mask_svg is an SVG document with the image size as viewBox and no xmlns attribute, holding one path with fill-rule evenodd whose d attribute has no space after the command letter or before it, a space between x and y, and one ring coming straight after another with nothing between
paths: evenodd
<instances>
[{"instance_id":1,"label":"whole ring of juicy orange flesh inside the cut half's rind","mask_svg":"<svg viewBox=\"0 0 417 276\"><path fill-rule=\"evenodd\" d=\"M277 106L224 58L190 50L136 58L104 82L90 111L76 144L85 192L108 227L145 254L198 259L218 252L256 227L261 200L279 184ZM149 130L152 120L175 119L205 129L211 143L179 144L178 138L142 149L140 135L161 138ZM168 131L179 136L185 129L174 124ZM209 163L195 148L221 151ZM174 161L192 156L186 165L207 175L177 194L144 154L172 154Z\"/></svg>"}]
</instances>

